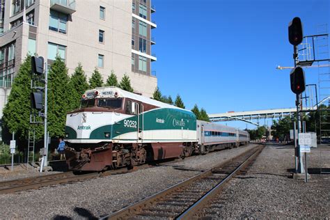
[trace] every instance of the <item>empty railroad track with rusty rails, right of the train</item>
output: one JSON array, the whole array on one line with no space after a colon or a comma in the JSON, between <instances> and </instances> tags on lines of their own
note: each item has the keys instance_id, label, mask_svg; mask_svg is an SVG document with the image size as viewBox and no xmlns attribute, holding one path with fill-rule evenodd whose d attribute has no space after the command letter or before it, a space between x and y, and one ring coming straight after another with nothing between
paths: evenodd
<instances>
[{"instance_id":1,"label":"empty railroad track with rusty rails, right of the train","mask_svg":"<svg viewBox=\"0 0 330 220\"><path fill-rule=\"evenodd\" d=\"M239 171L246 172L264 146L258 146L214 168L175 184L101 219L191 219Z\"/></svg>"}]
</instances>

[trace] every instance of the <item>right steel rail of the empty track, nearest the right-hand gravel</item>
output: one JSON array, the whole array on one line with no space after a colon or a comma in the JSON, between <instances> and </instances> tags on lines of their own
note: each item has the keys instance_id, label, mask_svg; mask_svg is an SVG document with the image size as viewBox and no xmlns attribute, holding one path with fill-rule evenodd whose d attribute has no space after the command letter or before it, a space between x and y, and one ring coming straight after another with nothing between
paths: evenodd
<instances>
[{"instance_id":1,"label":"right steel rail of the empty track, nearest the right-hand gravel","mask_svg":"<svg viewBox=\"0 0 330 220\"><path fill-rule=\"evenodd\" d=\"M203 207L203 205L205 205L205 203L210 201L215 195L217 195L219 193L219 191L221 191L221 189L223 188L223 185L226 184L229 180L231 180L231 178L233 178L233 176L238 171L240 171L242 167L248 165L249 162L251 161L251 159L256 158L259 155L259 153L261 152L261 150L262 150L262 148L260 148L256 152L254 152L253 155L248 157L244 162L242 162L242 164L237 166L237 168L235 168L235 171L233 171L232 173L230 173L230 175L228 175L226 178L221 180L221 182L219 182L215 187L213 187L213 189L208 191L207 194L205 194L203 197L201 197L198 201L196 201L196 203L191 205L187 210L182 212L182 214L175 217L175 219L178 219L178 220L191 219L194 216L194 214L196 214L198 212L198 210L200 210L201 207Z\"/></svg>"}]
</instances>

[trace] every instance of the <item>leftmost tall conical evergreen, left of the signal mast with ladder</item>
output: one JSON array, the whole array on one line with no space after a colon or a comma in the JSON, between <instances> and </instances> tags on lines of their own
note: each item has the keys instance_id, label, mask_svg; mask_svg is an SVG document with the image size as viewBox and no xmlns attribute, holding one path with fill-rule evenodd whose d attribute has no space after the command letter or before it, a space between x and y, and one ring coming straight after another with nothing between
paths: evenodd
<instances>
[{"instance_id":1,"label":"leftmost tall conical evergreen, left of the signal mast with ladder","mask_svg":"<svg viewBox=\"0 0 330 220\"><path fill-rule=\"evenodd\" d=\"M8 102L3 108L3 131L15 132L15 139L26 141L30 129L31 93L31 56L26 56L19 67L17 75L8 96ZM38 118L38 120L41 120ZM42 126L36 126L36 139L42 136ZM6 137L5 137L6 138ZM8 136L9 138L9 136ZM11 136L10 136L11 139Z\"/></svg>"}]
</instances>

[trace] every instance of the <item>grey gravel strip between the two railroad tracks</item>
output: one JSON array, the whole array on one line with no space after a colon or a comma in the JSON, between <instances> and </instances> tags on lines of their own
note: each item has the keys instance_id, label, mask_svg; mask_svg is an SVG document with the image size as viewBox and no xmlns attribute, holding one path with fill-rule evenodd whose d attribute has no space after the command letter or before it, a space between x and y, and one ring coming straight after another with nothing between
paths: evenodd
<instances>
[{"instance_id":1,"label":"grey gravel strip between the two railroad tracks","mask_svg":"<svg viewBox=\"0 0 330 220\"><path fill-rule=\"evenodd\" d=\"M0 195L1 219L81 219L100 217L131 205L173 184L186 180L198 170L212 168L256 145L188 157L180 162L138 170L123 175L44 187ZM178 169L178 167L180 169Z\"/></svg>"}]
</instances>

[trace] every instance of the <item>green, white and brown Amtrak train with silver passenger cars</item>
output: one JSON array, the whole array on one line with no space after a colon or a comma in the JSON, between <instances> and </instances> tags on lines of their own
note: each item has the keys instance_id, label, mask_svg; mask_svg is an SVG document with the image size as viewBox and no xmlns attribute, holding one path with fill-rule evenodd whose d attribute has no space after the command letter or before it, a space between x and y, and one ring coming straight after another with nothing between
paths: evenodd
<instances>
[{"instance_id":1,"label":"green, white and brown Amtrak train with silver passenger cars","mask_svg":"<svg viewBox=\"0 0 330 220\"><path fill-rule=\"evenodd\" d=\"M112 86L86 91L65 125L65 157L69 168L78 171L187 157L248 142L247 132L196 120L191 111Z\"/></svg>"}]
</instances>

